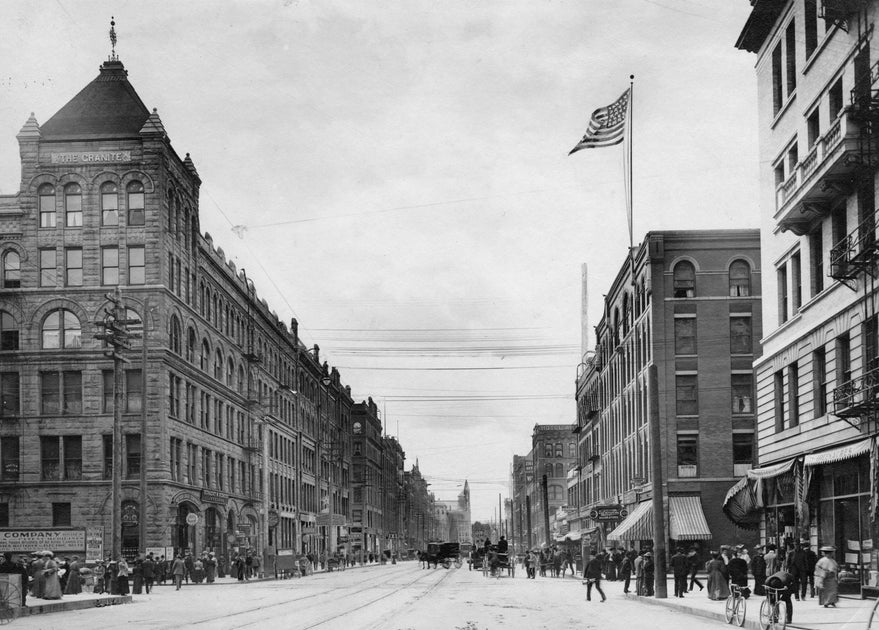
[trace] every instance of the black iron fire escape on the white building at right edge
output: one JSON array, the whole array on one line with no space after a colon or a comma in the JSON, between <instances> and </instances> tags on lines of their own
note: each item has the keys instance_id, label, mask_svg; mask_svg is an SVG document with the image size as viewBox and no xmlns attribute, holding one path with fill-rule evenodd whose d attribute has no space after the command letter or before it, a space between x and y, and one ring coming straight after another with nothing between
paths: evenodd
<instances>
[{"instance_id":1,"label":"black iron fire escape on the white building at right edge","mask_svg":"<svg viewBox=\"0 0 879 630\"><path fill-rule=\"evenodd\" d=\"M863 3L836 4L837 19L848 10L856 11L858 50L854 58L855 86L851 90L851 116L858 124L857 152L847 156L855 165L852 192L858 191L858 225L834 243L830 250L830 276L862 292L864 321L863 369L833 390L832 413L859 431L872 435L879 426L879 326L876 325L876 275L879 242L876 239L875 177L879 167L879 62L870 65L869 40L873 25L868 22ZM854 21L852 13L847 24ZM866 191L866 194L862 194ZM869 202L869 203L867 203ZM837 236L838 238L838 236ZM837 358L839 361L840 358Z\"/></svg>"}]
</instances>

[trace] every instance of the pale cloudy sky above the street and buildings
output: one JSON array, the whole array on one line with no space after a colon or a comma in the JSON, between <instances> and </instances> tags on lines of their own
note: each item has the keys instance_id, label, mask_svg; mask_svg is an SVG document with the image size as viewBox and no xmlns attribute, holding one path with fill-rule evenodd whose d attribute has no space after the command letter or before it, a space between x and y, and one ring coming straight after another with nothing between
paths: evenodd
<instances>
[{"instance_id":1,"label":"pale cloudy sky above the street and buildings","mask_svg":"<svg viewBox=\"0 0 879 630\"><path fill-rule=\"evenodd\" d=\"M629 234L622 146L570 149L633 89L634 242L756 228L747 0L4 0L15 135L116 52L202 179L200 220L440 499L496 518L535 424L576 422ZM588 268L583 313L581 268ZM590 335L589 347L594 344Z\"/></svg>"}]
</instances>

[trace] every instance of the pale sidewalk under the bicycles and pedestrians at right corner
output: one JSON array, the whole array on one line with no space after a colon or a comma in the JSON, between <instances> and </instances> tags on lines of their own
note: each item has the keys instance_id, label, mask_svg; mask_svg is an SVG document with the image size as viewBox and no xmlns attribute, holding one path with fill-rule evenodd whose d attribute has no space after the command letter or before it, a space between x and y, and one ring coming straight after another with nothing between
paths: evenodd
<instances>
[{"instance_id":1,"label":"pale sidewalk under the bicycles and pedestrians at right corner","mask_svg":"<svg viewBox=\"0 0 879 630\"><path fill-rule=\"evenodd\" d=\"M634 580L632 582L634 587ZM702 583L704 584L705 580L702 580ZM684 598L675 597L674 580L671 578L668 580L667 589L667 599L638 597L632 593L626 595L626 598L638 600L643 604L664 606L665 608L678 610L689 615L725 622L723 614L725 601L712 601L708 599L705 591L699 591L698 588L691 593L687 593ZM760 604L763 603L763 599L763 597L757 595L751 595L748 598L745 628L750 630L759 629L758 619L760 617ZM874 600L859 599L851 596L841 597L836 604L836 608L819 606L817 597L814 599L807 598L805 601L794 600L793 623L789 624L788 628L803 628L807 630L854 630L858 628L862 630L867 627L867 619L870 617L873 604L875 604ZM879 613L877 613L877 618L873 620L873 627L879 628Z\"/></svg>"}]
</instances>

